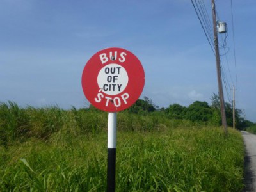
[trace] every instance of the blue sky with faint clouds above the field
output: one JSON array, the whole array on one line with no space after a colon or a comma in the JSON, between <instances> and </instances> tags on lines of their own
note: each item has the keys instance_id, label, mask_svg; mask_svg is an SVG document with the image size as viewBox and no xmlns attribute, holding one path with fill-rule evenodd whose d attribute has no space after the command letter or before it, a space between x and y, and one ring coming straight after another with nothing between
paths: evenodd
<instances>
[{"instance_id":1,"label":"blue sky with faint clouds above the field","mask_svg":"<svg viewBox=\"0 0 256 192\"><path fill-rule=\"evenodd\" d=\"M216 1L218 16L228 24L229 52L221 57L228 83L225 100L235 84L237 108L256 122L256 3L233 0L232 26L230 2ZM81 88L83 68L107 47L122 47L140 59L146 76L141 98L160 107L188 106L195 100L210 104L212 93L218 93L214 54L189 0L0 3L1 102L88 106ZM204 3L211 19L210 0Z\"/></svg>"}]
</instances>

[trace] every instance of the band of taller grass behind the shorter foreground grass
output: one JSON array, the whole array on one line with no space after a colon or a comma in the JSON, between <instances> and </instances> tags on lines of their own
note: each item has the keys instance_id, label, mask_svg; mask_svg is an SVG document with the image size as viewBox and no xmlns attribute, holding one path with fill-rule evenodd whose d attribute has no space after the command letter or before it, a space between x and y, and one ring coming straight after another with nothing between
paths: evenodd
<instances>
[{"instance_id":1,"label":"band of taller grass behind the shorter foreground grass","mask_svg":"<svg viewBox=\"0 0 256 192\"><path fill-rule=\"evenodd\" d=\"M63 110L58 106L45 108L20 108L14 102L0 103L0 144L8 147L15 141L29 138L48 140L52 134L68 127L65 131L76 134L97 133L108 129L108 113L88 109ZM159 113L140 116L118 113L120 131L154 131L174 127L198 127L200 124L188 120L168 120Z\"/></svg>"}]
</instances>

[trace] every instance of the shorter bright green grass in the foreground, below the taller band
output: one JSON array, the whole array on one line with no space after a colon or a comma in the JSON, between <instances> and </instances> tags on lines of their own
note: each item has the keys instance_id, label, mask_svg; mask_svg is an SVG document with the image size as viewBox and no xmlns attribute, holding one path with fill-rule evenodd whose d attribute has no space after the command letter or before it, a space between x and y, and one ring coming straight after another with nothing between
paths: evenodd
<instances>
[{"instance_id":1,"label":"shorter bright green grass in the foreground, below the taller band","mask_svg":"<svg viewBox=\"0 0 256 192\"><path fill-rule=\"evenodd\" d=\"M2 148L0 191L104 191L106 132ZM118 132L116 191L240 191L243 141L230 130Z\"/></svg>"}]
</instances>

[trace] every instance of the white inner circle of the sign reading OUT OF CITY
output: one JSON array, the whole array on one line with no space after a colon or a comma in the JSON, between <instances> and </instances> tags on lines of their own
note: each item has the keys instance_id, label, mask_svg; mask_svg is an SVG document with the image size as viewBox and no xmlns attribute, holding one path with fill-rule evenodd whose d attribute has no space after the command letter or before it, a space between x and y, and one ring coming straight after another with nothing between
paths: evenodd
<instances>
[{"instance_id":1,"label":"white inner circle of the sign reading OUT OF CITY","mask_svg":"<svg viewBox=\"0 0 256 192\"><path fill-rule=\"evenodd\" d=\"M125 90L129 77L124 67L111 63L100 70L97 81L102 92L118 95Z\"/></svg>"}]
</instances>

